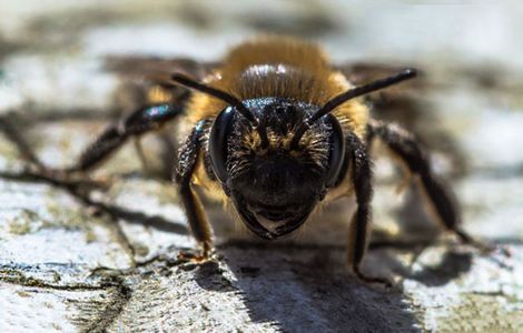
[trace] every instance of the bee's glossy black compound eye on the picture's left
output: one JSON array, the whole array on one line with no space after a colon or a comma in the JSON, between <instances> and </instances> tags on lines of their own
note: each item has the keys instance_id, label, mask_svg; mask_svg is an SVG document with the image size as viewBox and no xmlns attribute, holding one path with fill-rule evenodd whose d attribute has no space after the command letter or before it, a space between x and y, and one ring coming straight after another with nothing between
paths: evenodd
<instances>
[{"instance_id":1,"label":"bee's glossy black compound eye on the picture's left","mask_svg":"<svg viewBox=\"0 0 523 333\"><path fill-rule=\"evenodd\" d=\"M213 123L209 137L210 163L221 183L227 181L227 143L233 129L234 109L226 108Z\"/></svg>"}]
</instances>

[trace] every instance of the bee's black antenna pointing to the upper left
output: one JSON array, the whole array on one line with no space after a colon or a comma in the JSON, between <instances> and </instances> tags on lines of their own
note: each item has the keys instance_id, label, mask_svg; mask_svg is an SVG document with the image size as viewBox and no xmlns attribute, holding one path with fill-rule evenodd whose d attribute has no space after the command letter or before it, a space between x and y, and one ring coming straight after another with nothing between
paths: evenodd
<instances>
[{"instance_id":1,"label":"bee's black antenna pointing to the upper left","mask_svg":"<svg viewBox=\"0 0 523 333\"><path fill-rule=\"evenodd\" d=\"M247 107L245 107L245 104L240 100L238 100L236 97L231 95L230 93L203 84L203 83L199 83L181 73L174 73L170 77L170 79L178 84L200 91L203 93L210 94L217 99L220 99L227 102L231 107L236 108L236 110L238 110L238 112L241 113L241 115L244 115L253 124L254 128L258 128L258 120L253 114L253 112L249 109L247 109Z\"/></svg>"}]
</instances>

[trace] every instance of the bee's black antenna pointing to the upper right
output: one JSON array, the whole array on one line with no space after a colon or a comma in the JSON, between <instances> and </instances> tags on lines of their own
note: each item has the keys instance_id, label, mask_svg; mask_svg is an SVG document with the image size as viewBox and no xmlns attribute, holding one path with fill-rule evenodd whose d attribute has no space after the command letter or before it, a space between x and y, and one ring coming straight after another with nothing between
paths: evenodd
<instances>
[{"instance_id":1,"label":"bee's black antenna pointing to the upper right","mask_svg":"<svg viewBox=\"0 0 523 333\"><path fill-rule=\"evenodd\" d=\"M387 88L389 85L397 84L402 81L413 79L416 77L416 74L417 74L417 71L415 69L406 69L392 77L379 79L379 80L376 80L376 81L373 81L363 85L352 88L345 92L342 92L341 94L336 95L335 98L326 102L325 105L322 107L322 109L316 111L313 115L310 115L308 119L306 119L302 123L302 125L296 130L296 133L293 137L293 141L290 142L290 149L298 148L299 140L316 120L329 113L330 111L333 111L341 104L345 103L346 101L371 93L376 90Z\"/></svg>"}]
</instances>

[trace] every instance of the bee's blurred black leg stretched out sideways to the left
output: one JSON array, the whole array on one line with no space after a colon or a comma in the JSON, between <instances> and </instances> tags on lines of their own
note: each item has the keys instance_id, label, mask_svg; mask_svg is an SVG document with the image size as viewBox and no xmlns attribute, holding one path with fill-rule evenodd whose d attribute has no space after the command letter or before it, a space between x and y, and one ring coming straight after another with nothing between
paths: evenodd
<instances>
[{"instance_id":1,"label":"bee's blurred black leg stretched out sideways to the left","mask_svg":"<svg viewBox=\"0 0 523 333\"><path fill-rule=\"evenodd\" d=\"M98 139L81 154L78 162L66 169L66 172L86 172L98 167L102 161L116 152L128 139L139 139L140 135L158 130L166 122L182 112L179 105L164 103L147 105L116 124L110 124Z\"/></svg>"}]
</instances>

